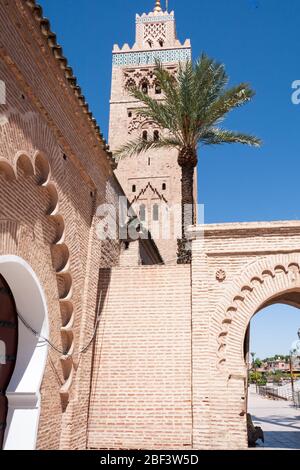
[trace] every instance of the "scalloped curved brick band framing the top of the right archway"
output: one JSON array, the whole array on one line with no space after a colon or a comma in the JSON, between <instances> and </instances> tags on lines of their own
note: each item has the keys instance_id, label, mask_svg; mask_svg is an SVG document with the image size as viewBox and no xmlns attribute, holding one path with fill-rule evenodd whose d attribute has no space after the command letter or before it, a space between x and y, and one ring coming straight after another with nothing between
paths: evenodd
<instances>
[{"instance_id":1,"label":"scalloped curved brick band framing the top of the right archway","mask_svg":"<svg viewBox=\"0 0 300 470\"><path fill-rule=\"evenodd\" d=\"M245 368L244 338L251 318L262 308L286 303L300 308L300 255L278 255L243 270L218 335L218 368L229 374ZM238 353L237 353L238 351Z\"/></svg>"}]
</instances>

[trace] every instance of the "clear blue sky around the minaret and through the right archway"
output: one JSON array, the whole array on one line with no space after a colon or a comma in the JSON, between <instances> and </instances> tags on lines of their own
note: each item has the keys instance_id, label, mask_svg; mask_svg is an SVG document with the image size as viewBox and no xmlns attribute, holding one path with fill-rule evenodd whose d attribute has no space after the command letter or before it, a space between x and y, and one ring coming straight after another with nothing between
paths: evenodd
<instances>
[{"instance_id":1,"label":"clear blue sky around the minaret and through the right archway","mask_svg":"<svg viewBox=\"0 0 300 470\"><path fill-rule=\"evenodd\" d=\"M152 10L154 0L40 0L40 4L107 135L112 46L133 44L135 14ZM194 58L205 51L225 63L231 84L247 81L257 93L225 125L261 137L261 149L239 145L200 149L198 191L206 223L300 219L300 105L291 102L291 84L300 80L299 0L169 0L171 9L179 38L192 40ZM271 349L279 335L290 343L284 309L282 322L279 315L272 325L273 335L253 345L259 355L276 352ZM270 315L263 317L257 325L268 331ZM300 315L288 318L296 332Z\"/></svg>"}]
</instances>

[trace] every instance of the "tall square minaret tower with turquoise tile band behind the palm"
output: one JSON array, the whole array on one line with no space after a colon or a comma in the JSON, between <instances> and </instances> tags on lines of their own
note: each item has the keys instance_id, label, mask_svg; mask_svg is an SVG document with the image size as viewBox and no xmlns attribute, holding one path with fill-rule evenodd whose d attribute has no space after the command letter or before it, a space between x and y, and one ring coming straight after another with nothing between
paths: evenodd
<instances>
[{"instance_id":1,"label":"tall square minaret tower with turquoise tile band behind the palm","mask_svg":"<svg viewBox=\"0 0 300 470\"><path fill-rule=\"evenodd\" d=\"M163 99L153 74L156 58L172 74L176 74L180 62L191 59L190 41L180 43L174 12L163 11L159 0L152 12L136 15L133 47L124 44L122 48L117 45L113 48L109 125L112 152L138 136L159 138L161 130L136 115L140 103L129 94L130 87L137 86L144 93ZM176 238L181 234L181 171L177 151L151 150L124 158L118 164L116 175L141 221L150 229L164 262L175 264Z\"/></svg>"}]
</instances>

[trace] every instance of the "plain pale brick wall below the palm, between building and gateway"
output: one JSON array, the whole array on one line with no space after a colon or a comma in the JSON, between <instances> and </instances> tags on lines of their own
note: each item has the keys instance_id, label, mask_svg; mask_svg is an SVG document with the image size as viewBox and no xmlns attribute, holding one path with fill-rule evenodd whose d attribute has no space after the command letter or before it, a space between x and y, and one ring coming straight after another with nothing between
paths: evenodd
<instances>
[{"instance_id":1,"label":"plain pale brick wall below the palm, between building and gateway","mask_svg":"<svg viewBox=\"0 0 300 470\"><path fill-rule=\"evenodd\" d=\"M190 267L100 272L88 447L191 448Z\"/></svg>"}]
</instances>

